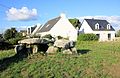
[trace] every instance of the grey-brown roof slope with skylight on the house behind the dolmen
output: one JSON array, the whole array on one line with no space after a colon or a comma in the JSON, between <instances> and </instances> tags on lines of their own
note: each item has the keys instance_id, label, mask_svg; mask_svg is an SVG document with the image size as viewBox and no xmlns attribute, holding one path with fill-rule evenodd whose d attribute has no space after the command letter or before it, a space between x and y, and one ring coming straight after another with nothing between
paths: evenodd
<instances>
[{"instance_id":1,"label":"grey-brown roof slope with skylight on the house behind the dolmen","mask_svg":"<svg viewBox=\"0 0 120 78\"><path fill-rule=\"evenodd\" d=\"M60 16L54 19L49 20L45 25L40 29L39 32L47 32L50 31L51 28L60 20Z\"/></svg>"}]
</instances>

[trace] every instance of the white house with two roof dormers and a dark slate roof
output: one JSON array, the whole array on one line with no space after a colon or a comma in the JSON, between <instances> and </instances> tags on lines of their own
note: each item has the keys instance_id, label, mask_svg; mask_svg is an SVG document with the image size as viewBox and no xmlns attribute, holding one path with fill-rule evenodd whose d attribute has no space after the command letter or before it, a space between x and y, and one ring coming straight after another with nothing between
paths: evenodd
<instances>
[{"instance_id":1,"label":"white house with two roof dormers and a dark slate roof","mask_svg":"<svg viewBox=\"0 0 120 78\"><path fill-rule=\"evenodd\" d=\"M115 39L115 30L106 20L84 19L79 32L96 34L99 41L113 41Z\"/></svg>"}]
</instances>

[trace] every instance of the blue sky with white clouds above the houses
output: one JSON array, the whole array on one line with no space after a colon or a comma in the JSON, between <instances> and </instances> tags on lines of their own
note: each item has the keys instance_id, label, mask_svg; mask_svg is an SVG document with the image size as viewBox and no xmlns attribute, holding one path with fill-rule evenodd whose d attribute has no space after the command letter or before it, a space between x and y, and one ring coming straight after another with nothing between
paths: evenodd
<instances>
[{"instance_id":1,"label":"blue sky with white clouds above the houses","mask_svg":"<svg viewBox=\"0 0 120 78\"><path fill-rule=\"evenodd\" d=\"M68 18L106 19L120 29L120 0L1 0L0 33L24 29L65 13Z\"/></svg>"}]
</instances>

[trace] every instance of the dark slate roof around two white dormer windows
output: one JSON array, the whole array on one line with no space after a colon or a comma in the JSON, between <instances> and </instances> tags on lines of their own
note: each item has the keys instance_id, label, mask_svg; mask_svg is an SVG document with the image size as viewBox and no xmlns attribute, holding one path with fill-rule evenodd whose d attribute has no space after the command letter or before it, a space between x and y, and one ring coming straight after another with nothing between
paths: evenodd
<instances>
[{"instance_id":1,"label":"dark slate roof around two white dormer windows","mask_svg":"<svg viewBox=\"0 0 120 78\"><path fill-rule=\"evenodd\" d=\"M107 29L107 25L110 23L106 20L100 19L85 19L85 20L93 31L115 31L115 29L112 26L110 29ZM99 24L99 29L95 29L95 24L97 23Z\"/></svg>"}]
</instances>

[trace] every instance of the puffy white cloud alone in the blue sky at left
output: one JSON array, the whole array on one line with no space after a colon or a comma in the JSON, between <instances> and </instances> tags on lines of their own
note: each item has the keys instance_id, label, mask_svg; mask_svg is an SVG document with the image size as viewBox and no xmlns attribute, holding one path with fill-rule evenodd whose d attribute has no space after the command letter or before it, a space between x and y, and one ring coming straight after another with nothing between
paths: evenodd
<instances>
[{"instance_id":1,"label":"puffy white cloud alone in the blue sky at left","mask_svg":"<svg viewBox=\"0 0 120 78\"><path fill-rule=\"evenodd\" d=\"M37 19L37 9L28 9L27 7L22 7L17 9L12 7L6 11L7 20L9 21L29 21Z\"/></svg>"}]
</instances>

